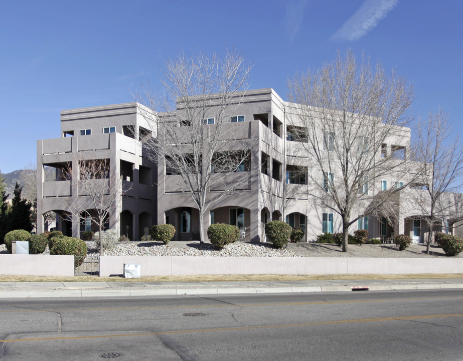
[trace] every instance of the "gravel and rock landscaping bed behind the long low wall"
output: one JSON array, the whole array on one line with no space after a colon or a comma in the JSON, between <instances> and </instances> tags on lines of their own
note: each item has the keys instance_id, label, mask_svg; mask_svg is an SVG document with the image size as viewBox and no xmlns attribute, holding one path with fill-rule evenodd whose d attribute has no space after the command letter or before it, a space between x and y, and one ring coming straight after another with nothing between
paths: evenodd
<instances>
[{"instance_id":1,"label":"gravel and rock landscaping bed behind the long low wall","mask_svg":"<svg viewBox=\"0 0 463 361\"><path fill-rule=\"evenodd\" d=\"M86 242L88 257L99 255L94 242ZM395 258L435 258L447 257L441 248L431 245L431 254L427 255L426 246L411 244L406 250L399 251L394 244L348 246L348 252L334 244L290 243L277 250L270 243L251 244L235 242L217 250L213 245L199 241L172 241L168 245L160 242L120 243L107 251L109 256L215 256L215 257L395 257ZM5 245L0 245L0 254L7 253ZM49 254L48 247L44 254ZM463 258L463 252L452 258Z\"/></svg>"}]
</instances>

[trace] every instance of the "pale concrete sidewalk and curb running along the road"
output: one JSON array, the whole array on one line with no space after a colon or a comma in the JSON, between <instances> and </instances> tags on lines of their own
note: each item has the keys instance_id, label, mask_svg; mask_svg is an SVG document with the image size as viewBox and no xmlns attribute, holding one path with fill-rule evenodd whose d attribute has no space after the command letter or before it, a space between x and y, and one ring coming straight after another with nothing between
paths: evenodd
<instances>
[{"instance_id":1,"label":"pale concrete sidewalk and curb running along the road","mask_svg":"<svg viewBox=\"0 0 463 361\"><path fill-rule=\"evenodd\" d=\"M1 298L117 297L183 294L341 292L463 288L463 279L229 281L229 282L0 282Z\"/></svg>"}]
</instances>

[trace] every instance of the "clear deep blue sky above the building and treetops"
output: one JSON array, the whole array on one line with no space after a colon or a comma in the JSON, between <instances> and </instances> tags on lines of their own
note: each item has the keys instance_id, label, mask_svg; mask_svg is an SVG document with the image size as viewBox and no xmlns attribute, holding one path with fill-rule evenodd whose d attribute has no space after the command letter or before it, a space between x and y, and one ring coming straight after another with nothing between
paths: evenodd
<instances>
[{"instance_id":1,"label":"clear deep blue sky above the building and treetops","mask_svg":"<svg viewBox=\"0 0 463 361\"><path fill-rule=\"evenodd\" d=\"M180 51L241 51L250 88L286 99L286 79L352 48L414 84L413 112L441 105L463 130L460 0L0 1L0 170L36 163L60 111L131 102L160 89Z\"/></svg>"}]
</instances>

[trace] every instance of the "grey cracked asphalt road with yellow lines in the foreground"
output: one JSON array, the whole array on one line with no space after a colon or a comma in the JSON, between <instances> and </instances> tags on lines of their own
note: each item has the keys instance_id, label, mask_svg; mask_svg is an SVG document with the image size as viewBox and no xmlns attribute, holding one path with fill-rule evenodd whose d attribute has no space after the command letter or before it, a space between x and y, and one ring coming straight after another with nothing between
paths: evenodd
<instances>
[{"instance_id":1,"label":"grey cracked asphalt road with yellow lines in the foreground","mask_svg":"<svg viewBox=\"0 0 463 361\"><path fill-rule=\"evenodd\" d=\"M462 360L463 290L0 302L5 360Z\"/></svg>"}]
</instances>

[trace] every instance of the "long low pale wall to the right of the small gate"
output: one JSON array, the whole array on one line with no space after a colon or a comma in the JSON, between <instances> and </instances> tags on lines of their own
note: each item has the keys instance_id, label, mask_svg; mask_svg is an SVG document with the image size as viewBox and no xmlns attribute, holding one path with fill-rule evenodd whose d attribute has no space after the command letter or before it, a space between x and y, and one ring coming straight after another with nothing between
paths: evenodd
<instances>
[{"instance_id":1,"label":"long low pale wall to the right of the small gate","mask_svg":"<svg viewBox=\"0 0 463 361\"><path fill-rule=\"evenodd\" d=\"M139 264L142 277L199 274L463 273L461 258L101 256L100 276L123 274L124 263Z\"/></svg>"}]
</instances>

